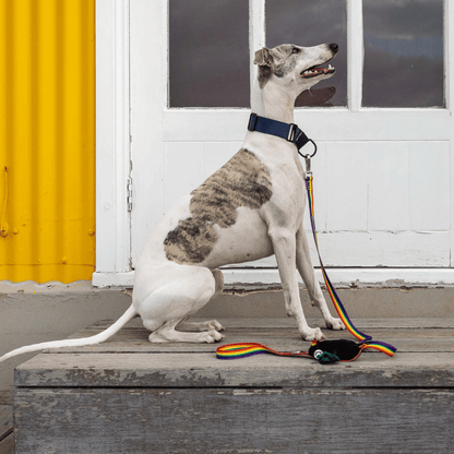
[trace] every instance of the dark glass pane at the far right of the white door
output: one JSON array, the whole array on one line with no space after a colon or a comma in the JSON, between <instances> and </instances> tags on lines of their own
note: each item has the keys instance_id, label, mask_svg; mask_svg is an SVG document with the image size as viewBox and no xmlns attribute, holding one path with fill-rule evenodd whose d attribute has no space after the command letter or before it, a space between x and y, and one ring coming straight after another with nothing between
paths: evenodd
<instances>
[{"instance_id":1,"label":"dark glass pane at the far right of the white door","mask_svg":"<svg viewBox=\"0 0 454 454\"><path fill-rule=\"evenodd\" d=\"M367 107L444 107L443 1L363 0Z\"/></svg>"}]
</instances>

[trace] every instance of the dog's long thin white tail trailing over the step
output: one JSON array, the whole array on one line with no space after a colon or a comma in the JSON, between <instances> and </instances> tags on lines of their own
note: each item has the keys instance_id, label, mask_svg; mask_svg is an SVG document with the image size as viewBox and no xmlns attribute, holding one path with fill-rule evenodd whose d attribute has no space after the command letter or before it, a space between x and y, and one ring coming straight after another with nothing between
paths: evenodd
<instances>
[{"instance_id":1,"label":"dog's long thin white tail trailing over the step","mask_svg":"<svg viewBox=\"0 0 454 454\"><path fill-rule=\"evenodd\" d=\"M16 348L2 357L0 357L0 362L5 361L7 359L13 358L17 355L29 354L32 351L43 350L45 348L60 348L60 347L81 347L83 345L94 345L99 344L104 340L107 340L113 334L118 333L130 320L139 315L134 307L131 304L129 309L107 330L103 331L99 334L91 337L83 337L81 339L64 339L64 340L51 340L43 342L40 344L27 345L25 347Z\"/></svg>"}]
</instances>

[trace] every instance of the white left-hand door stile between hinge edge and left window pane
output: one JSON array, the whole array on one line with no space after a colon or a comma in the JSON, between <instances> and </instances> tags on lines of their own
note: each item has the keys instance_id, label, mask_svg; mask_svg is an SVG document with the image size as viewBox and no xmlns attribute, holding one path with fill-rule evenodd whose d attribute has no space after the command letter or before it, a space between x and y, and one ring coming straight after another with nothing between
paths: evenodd
<instances>
[{"instance_id":1,"label":"white left-hand door stile between hinge edge and left window pane","mask_svg":"<svg viewBox=\"0 0 454 454\"><path fill-rule=\"evenodd\" d=\"M131 2L132 266L164 214L163 120L168 101L168 1Z\"/></svg>"}]
</instances>

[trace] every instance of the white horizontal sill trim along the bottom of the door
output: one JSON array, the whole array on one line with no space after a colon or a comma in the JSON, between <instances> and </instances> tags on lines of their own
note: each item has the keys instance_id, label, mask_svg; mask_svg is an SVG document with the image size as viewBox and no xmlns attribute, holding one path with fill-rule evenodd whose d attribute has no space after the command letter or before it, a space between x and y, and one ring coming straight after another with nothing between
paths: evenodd
<instances>
[{"instance_id":1,"label":"white horizontal sill trim along the bottom of the door","mask_svg":"<svg viewBox=\"0 0 454 454\"><path fill-rule=\"evenodd\" d=\"M320 268L315 270L319 282L323 282ZM327 268L327 275L334 286L373 285L380 287L395 286L451 286L454 285L452 268ZM279 284L276 268L229 268L223 270L226 285L232 284ZM300 283L302 282L299 278ZM95 287L132 287L134 272L95 273Z\"/></svg>"}]
</instances>

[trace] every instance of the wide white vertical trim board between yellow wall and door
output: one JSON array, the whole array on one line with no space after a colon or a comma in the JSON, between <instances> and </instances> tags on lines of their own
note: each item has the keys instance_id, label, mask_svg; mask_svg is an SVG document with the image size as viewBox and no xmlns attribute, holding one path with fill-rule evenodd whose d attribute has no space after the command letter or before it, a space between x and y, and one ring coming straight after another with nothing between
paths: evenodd
<instances>
[{"instance_id":1,"label":"wide white vertical trim board between yellow wall and door","mask_svg":"<svg viewBox=\"0 0 454 454\"><path fill-rule=\"evenodd\" d=\"M129 0L97 0L96 273L130 270L129 105Z\"/></svg>"}]
</instances>

